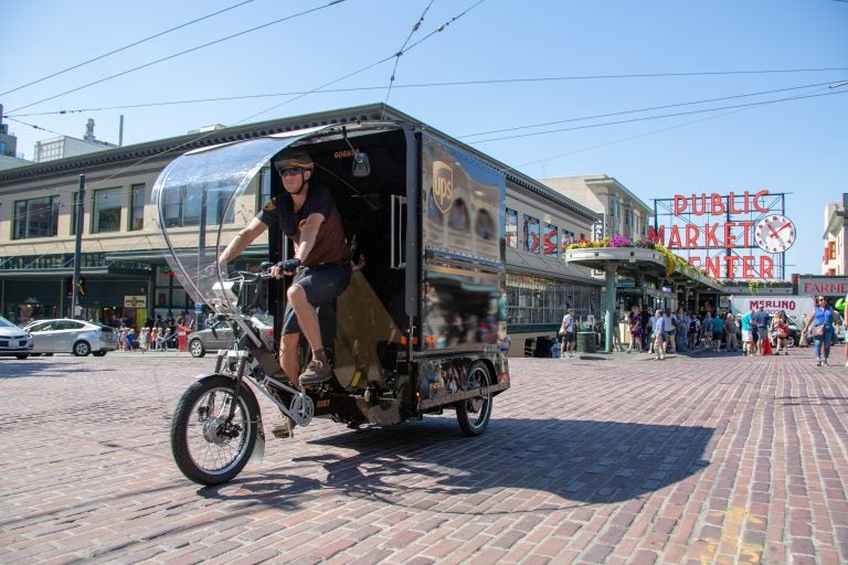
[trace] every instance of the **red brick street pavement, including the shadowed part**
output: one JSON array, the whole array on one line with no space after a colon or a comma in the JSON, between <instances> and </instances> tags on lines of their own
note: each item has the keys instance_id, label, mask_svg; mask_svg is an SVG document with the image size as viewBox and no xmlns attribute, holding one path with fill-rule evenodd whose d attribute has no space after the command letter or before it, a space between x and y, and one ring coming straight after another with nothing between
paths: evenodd
<instances>
[{"instance_id":1,"label":"red brick street pavement, including the shadowed part","mask_svg":"<svg viewBox=\"0 0 848 565\"><path fill-rule=\"evenodd\" d=\"M0 563L846 563L833 361L515 359L483 437L317 420L202 489L168 426L212 360L2 359Z\"/></svg>"}]
</instances>

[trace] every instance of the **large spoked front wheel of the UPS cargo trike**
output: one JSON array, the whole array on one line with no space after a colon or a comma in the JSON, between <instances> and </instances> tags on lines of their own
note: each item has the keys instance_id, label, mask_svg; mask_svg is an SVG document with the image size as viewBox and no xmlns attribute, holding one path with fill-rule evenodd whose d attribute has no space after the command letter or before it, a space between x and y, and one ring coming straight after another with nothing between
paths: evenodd
<instances>
[{"instance_id":1,"label":"large spoked front wheel of the UPS cargo trike","mask_svg":"<svg viewBox=\"0 0 848 565\"><path fill-rule=\"evenodd\" d=\"M247 465L256 444L259 406L253 391L243 384L233 420L227 424L234 395L235 381L210 375L192 384L177 404L171 452L177 467L194 482L221 484Z\"/></svg>"}]
</instances>

